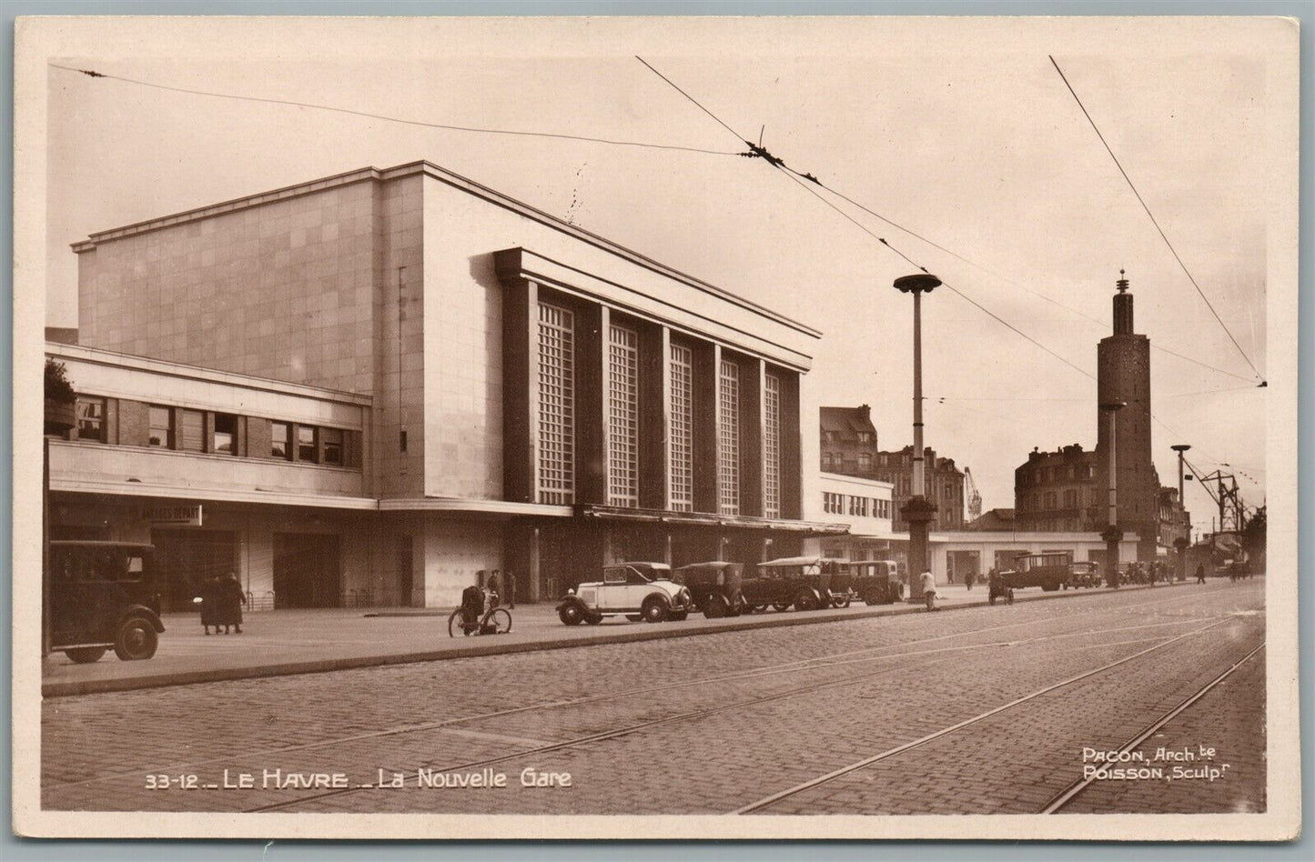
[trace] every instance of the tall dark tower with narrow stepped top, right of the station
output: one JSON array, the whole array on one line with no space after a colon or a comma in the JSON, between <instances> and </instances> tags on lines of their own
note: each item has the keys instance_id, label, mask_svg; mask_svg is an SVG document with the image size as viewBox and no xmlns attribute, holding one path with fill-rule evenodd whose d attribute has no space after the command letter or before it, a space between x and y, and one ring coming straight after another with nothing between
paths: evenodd
<instances>
[{"instance_id":1,"label":"tall dark tower with narrow stepped top, right of the station","mask_svg":"<svg viewBox=\"0 0 1315 862\"><path fill-rule=\"evenodd\" d=\"M1119 271L1114 294L1114 334L1097 347L1097 403L1122 401L1114 414L1118 469L1118 526L1139 536L1137 560L1156 558L1160 474L1151 457L1151 339L1132 331L1132 294ZM1097 491L1105 501L1110 469L1110 419L1097 415ZM1105 522L1105 509L1101 509Z\"/></svg>"}]
</instances>

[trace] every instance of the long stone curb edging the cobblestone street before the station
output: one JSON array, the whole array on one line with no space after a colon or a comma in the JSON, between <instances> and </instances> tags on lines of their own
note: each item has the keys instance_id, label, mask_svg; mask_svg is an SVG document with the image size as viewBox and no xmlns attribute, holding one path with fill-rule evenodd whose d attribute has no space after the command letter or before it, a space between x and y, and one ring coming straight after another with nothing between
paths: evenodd
<instances>
[{"instance_id":1,"label":"long stone curb edging the cobblestone street before the station","mask_svg":"<svg viewBox=\"0 0 1315 862\"><path fill-rule=\"evenodd\" d=\"M1184 582L1185 585L1186 582ZM1169 583L1165 586L1180 586ZM1110 593L1124 593L1135 590L1162 589L1149 585L1122 586L1118 590L1110 587L1064 590L1057 593L1041 593L1036 595L1019 595L1015 604L1026 602L1044 602L1051 599L1078 598L1088 595L1107 595ZM957 611L970 607L988 607L989 602L960 602L945 604L939 610ZM135 691L141 689L162 689L167 686L189 686L206 682L230 682L235 679L262 679L267 677L289 677L297 674L330 673L334 670L355 670L360 668L383 668L388 665L406 665L426 661L447 661L451 658L476 658L483 656L501 656L510 653L546 652L550 649L573 649L577 646L598 646L602 644L629 644L647 640L665 640L669 637L696 637L698 635L719 635L723 632L736 632L756 628L780 628L784 625L815 625L819 623L842 623L846 620L874 619L881 616L907 616L911 614L926 614L920 604L903 604L894 607L877 607L859 612L827 612L813 611L810 614L771 614L765 616L753 615L750 618L726 618L717 624L700 625L697 628L684 628L676 625L644 625L642 628L627 628L617 632L600 632L567 640L550 641L519 641L519 643L488 643L469 644L448 649L431 649L410 653L396 653L389 656L348 656L343 658L321 658L314 661L295 661L276 665L259 665L254 668L220 668L216 670L184 670L178 673L154 674L146 677L125 677L120 679L84 679L60 681L41 683L42 698L68 698L83 694L107 694L114 691Z\"/></svg>"}]
</instances>

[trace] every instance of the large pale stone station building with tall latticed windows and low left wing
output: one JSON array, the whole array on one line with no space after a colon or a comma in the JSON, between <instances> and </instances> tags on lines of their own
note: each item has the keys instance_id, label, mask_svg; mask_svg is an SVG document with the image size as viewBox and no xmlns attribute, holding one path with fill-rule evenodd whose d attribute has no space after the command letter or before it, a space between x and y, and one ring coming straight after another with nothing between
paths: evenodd
<instances>
[{"instance_id":1,"label":"large pale stone station building with tall latticed windows and low left wing","mask_svg":"<svg viewBox=\"0 0 1315 862\"><path fill-rule=\"evenodd\" d=\"M53 537L150 539L270 607L555 599L605 562L756 562L803 506L819 332L427 162L74 246ZM70 339L60 339L70 340Z\"/></svg>"}]
</instances>

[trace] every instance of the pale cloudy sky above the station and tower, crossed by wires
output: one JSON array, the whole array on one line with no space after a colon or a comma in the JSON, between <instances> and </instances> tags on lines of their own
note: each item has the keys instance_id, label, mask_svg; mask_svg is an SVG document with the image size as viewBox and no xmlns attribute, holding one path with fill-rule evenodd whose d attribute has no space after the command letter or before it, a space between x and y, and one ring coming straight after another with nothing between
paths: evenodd
<instances>
[{"instance_id":1,"label":"pale cloudy sky above the station and tower, crossed by wires","mask_svg":"<svg viewBox=\"0 0 1315 862\"><path fill-rule=\"evenodd\" d=\"M1266 390L1255 388L1258 377L1047 55L1264 374L1264 51L1165 22L1153 32L1073 22L1063 33L961 21L729 24L659 34L577 21L548 41L515 29L523 24L462 38L451 22L368 34L331 25L314 38L259 24L172 41L128 32L71 39L76 53L51 62L416 121L744 150L631 57L644 54L742 135L756 141L763 130L789 166L972 261L818 189L1093 376L1114 281L1127 269L1137 331L1222 369L1152 351L1161 481L1177 477L1169 445L1190 443L1202 470L1230 463L1243 472L1247 502L1261 502ZM890 286L910 264L761 159L433 130L58 68L49 70L49 124L50 325L76 325L68 244L89 233L429 159L818 327L811 401L869 403L882 448L911 440L911 304ZM924 302L923 323L927 443L972 469L984 507L1013 506L1013 470L1032 447L1094 447L1091 378L944 288ZM1208 498L1189 490L1187 505L1208 530Z\"/></svg>"}]
</instances>

